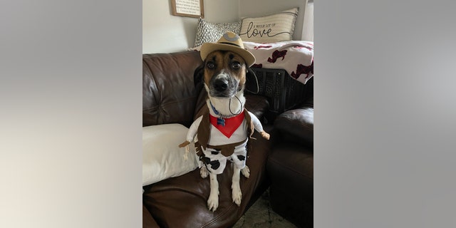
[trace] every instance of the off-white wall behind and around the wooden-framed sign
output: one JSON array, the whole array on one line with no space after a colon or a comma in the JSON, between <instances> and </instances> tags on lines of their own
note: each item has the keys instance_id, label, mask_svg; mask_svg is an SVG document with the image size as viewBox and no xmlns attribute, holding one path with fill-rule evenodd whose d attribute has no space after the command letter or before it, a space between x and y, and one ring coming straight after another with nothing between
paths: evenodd
<instances>
[{"instance_id":1,"label":"off-white wall behind and around the wooden-framed sign","mask_svg":"<svg viewBox=\"0 0 456 228\"><path fill-rule=\"evenodd\" d=\"M238 2L204 0L204 19L214 23L239 19ZM185 51L195 42L198 19L171 14L170 0L142 0L142 53Z\"/></svg>"}]
</instances>

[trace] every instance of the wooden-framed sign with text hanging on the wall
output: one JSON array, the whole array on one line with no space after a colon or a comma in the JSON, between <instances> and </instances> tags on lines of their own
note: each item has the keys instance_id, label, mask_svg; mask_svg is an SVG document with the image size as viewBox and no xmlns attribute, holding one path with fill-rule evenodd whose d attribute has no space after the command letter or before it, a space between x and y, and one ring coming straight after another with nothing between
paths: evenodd
<instances>
[{"instance_id":1,"label":"wooden-framed sign with text hanging on the wall","mask_svg":"<svg viewBox=\"0 0 456 228\"><path fill-rule=\"evenodd\" d=\"M171 0L172 15L204 19L204 0Z\"/></svg>"}]
</instances>

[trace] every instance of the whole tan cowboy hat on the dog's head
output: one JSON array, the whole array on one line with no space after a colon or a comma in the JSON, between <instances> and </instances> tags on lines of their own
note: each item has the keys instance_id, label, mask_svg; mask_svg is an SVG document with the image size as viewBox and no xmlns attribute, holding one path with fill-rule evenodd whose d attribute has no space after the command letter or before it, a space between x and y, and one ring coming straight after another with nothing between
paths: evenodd
<instances>
[{"instance_id":1,"label":"whole tan cowboy hat on the dog's head","mask_svg":"<svg viewBox=\"0 0 456 228\"><path fill-rule=\"evenodd\" d=\"M224 33L217 43L203 43L199 55L204 61L209 53L217 50L232 51L237 53L239 56L244 58L248 67L254 65L255 63L255 56L244 48L242 39L236 33L232 33L231 31Z\"/></svg>"}]
</instances>

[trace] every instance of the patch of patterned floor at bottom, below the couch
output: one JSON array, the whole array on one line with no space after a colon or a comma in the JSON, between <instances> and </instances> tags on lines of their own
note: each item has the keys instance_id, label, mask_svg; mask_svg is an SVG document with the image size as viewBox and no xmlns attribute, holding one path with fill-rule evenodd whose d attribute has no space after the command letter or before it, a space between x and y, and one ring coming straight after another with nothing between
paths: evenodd
<instances>
[{"instance_id":1,"label":"patch of patterned floor at bottom, below the couch","mask_svg":"<svg viewBox=\"0 0 456 228\"><path fill-rule=\"evenodd\" d=\"M234 224L233 228L296 228L294 224L276 214L269 204L269 190L259 197L252 207Z\"/></svg>"}]
</instances>

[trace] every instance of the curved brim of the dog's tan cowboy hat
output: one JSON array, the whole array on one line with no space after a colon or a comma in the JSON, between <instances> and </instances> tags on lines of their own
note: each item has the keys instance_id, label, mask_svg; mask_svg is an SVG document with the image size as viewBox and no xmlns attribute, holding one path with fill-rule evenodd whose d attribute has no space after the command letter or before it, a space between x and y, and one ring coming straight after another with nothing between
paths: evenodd
<instances>
[{"instance_id":1,"label":"curved brim of the dog's tan cowboy hat","mask_svg":"<svg viewBox=\"0 0 456 228\"><path fill-rule=\"evenodd\" d=\"M247 51L246 49L239 46L224 43L203 43L201 46L201 51L199 51L199 55L204 61L209 53L212 53L212 51L232 51L234 53L237 53L239 56L244 58L244 61L248 67L251 67L255 63L255 56L250 53L250 51Z\"/></svg>"}]
</instances>

